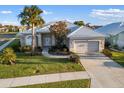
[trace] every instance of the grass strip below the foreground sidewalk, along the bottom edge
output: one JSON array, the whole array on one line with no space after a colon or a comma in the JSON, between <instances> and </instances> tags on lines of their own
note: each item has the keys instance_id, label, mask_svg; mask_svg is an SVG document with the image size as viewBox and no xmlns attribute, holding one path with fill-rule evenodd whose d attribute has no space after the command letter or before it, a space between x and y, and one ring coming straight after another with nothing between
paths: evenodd
<instances>
[{"instance_id":1,"label":"grass strip below the foreground sidewalk, along the bottom edge","mask_svg":"<svg viewBox=\"0 0 124 93\"><path fill-rule=\"evenodd\" d=\"M89 88L89 87L90 87L89 79L79 79L46 84L27 85L18 88Z\"/></svg>"}]
</instances>

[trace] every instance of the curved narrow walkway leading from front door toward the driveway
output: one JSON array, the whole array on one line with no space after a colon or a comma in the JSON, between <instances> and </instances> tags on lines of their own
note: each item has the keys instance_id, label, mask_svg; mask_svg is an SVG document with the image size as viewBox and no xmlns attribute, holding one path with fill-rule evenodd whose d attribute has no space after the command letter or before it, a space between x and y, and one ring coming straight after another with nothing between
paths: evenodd
<instances>
[{"instance_id":1,"label":"curved narrow walkway leading from front door toward the driveway","mask_svg":"<svg viewBox=\"0 0 124 93\"><path fill-rule=\"evenodd\" d=\"M59 55L51 55L48 53L49 48L43 48L42 55L50 58L69 58L69 56L59 56Z\"/></svg>"}]
</instances>

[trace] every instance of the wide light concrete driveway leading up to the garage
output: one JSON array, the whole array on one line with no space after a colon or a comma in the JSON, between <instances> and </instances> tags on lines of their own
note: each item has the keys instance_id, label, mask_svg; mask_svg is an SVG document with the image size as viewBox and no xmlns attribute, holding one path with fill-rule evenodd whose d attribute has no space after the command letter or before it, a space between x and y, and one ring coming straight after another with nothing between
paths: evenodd
<instances>
[{"instance_id":1,"label":"wide light concrete driveway leading up to the garage","mask_svg":"<svg viewBox=\"0 0 124 93\"><path fill-rule=\"evenodd\" d=\"M124 88L124 68L103 54L81 57L91 77L91 88Z\"/></svg>"}]
</instances>

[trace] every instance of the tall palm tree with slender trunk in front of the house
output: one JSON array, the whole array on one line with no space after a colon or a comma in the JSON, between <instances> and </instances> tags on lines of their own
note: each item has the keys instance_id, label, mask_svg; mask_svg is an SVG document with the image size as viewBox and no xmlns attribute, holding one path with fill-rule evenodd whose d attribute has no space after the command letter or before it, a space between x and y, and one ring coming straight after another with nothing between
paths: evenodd
<instances>
[{"instance_id":1,"label":"tall palm tree with slender trunk in front of the house","mask_svg":"<svg viewBox=\"0 0 124 93\"><path fill-rule=\"evenodd\" d=\"M35 52L35 27L42 26L45 22L40 16L43 11L36 5L25 6L23 11L18 15L21 19L21 25L26 25L32 29L32 55Z\"/></svg>"}]
</instances>

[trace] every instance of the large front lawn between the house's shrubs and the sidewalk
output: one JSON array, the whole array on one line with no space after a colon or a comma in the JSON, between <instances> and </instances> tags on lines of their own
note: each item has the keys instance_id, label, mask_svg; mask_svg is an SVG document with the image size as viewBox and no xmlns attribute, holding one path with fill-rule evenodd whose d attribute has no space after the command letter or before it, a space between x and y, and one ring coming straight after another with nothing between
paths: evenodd
<instances>
[{"instance_id":1,"label":"large front lawn between the house's shrubs and the sidewalk","mask_svg":"<svg viewBox=\"0 0 124 93\"><path fill-rule=\"evenodd\" d=\"M44 56L17 55L15 65L0 64L0 78L31 76L85 70L80 64L69 59L47 58Z\"/></svg>"}]
</instances>

